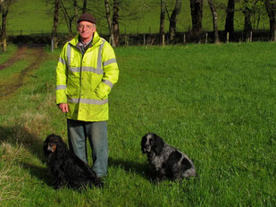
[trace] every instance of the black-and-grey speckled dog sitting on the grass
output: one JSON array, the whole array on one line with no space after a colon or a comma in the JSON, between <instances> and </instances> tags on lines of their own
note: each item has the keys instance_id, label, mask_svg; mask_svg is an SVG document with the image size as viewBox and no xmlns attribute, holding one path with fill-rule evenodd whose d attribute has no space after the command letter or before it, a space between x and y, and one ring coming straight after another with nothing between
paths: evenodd
<instances>
[{"instance_id":1,"label":"black-and-grey speckled dog sitting on the grass","mask_svg":"<svg viewBox=\"0 0 276 207\"><path fill-rule=\"evenodd\" d=\"M157 181L169 178L171 180L196 176L194 163L185 153L167 145L161 137L146 134L141 141L142 152L155 168Z\"/></svg>"}]
</instances>

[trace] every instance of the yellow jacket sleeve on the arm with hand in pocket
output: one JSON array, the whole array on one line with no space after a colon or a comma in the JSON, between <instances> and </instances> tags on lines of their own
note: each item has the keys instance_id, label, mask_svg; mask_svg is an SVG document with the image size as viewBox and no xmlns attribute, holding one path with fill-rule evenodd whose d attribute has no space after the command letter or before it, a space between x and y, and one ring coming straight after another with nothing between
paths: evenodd
<instances>
[{"instance_id":1,"label":"yellow jacket sleeve on the arm with hand in pocket","mask_svg":"<svg viewBox=\"0 0 276 207\"><path fill-rule=\"evenodd\" d=\"M102 82L96 87L96 95L104 99L111 91L115 83L119 79L119 68L113 47L108 42L102 50L102 64L104 69L104 77Z\"/></svg>"}]
</instances>

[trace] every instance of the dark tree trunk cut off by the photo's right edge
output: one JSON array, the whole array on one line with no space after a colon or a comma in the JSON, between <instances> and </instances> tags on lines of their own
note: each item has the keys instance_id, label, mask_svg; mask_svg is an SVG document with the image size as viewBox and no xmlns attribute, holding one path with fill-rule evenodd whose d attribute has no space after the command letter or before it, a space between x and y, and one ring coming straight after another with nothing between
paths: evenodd
<instances>
[{"instance_id":1,"label":"dark tree trunk cut off by the photo's right edge","mask_svg":"<svg viewBox=\"0 0 276 207\"><path fill-rule=\"evenodd\" d=\"M276 41L276 21L275 21L275 12L276 12L276 5L272 4L270 0L265 0L265 8L269 17L270 21L270 40L275 42Z\"/></svg>"}]
</instances>

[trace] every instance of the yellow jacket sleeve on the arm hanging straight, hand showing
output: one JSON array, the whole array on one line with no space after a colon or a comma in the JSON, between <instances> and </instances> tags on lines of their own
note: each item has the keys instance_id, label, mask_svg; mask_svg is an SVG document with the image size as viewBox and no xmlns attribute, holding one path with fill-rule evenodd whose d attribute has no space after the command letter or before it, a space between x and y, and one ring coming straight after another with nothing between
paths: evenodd
<instances>
[{"instance_id":1,"label":"yellow jacket sleeve on the arm hanging straight, hand showing","mask_svg":"<svg viewBox=\"0 0 276 207\"><path fill-rule=\"evenodd\" d=\"M56 66L56 87L55 87L56 104L67 103L67 95L65 93L66 82L67 82L66 48L67 48L67 44L63 46L63 51L60 54L60 57Z\"/></svg>"}]
</instances>

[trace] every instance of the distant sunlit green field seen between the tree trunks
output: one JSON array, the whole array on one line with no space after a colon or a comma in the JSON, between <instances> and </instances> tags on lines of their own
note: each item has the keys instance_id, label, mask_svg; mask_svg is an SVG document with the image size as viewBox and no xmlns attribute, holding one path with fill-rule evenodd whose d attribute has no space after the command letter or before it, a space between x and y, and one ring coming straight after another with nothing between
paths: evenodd
<instances>
[{"instance_id":1,"label":"distant sunlit green field seen between the tree trunks","mask_svg":"<svg viewBox=\"0 0 276 207\"><path fill-rule=\"evenodd\" d=\"M130 5L128 5L129 1L122 1L120 7L120 32L124 34L125 31L129 33L158 33L159 32L159 24L160 24L160 2L155 0L131 0ZM216 1L218 4L222 4L223 6L227 6L227 2L225 0ZM167 1L168 10L171 14L173 5L175 1ZM79 2L79 6L81 6L81 1ZM241 3L236 3L236 12L235 12L235 29L242 30L244 27L244 15L242 12L238 11L242 7ZM93 2L93 5L89 4L89 9L94 11L97 22L98 22L98 31L101 34L108 34L107 23L105 20L105 7L104 2ZM225 25L225 9L221 6L218 9L218 26L220 30L224 29ZM96 10L96 11L95 11ZM41 32L51 33L53 27L53 15L51 14L51 5L46 4L45 0L21 0L16 1L12 6L8 14L7 20L7 29L8 34L11 34L13 31L13 35L19 35L20 30L22 30L22 34L34 34ZM133 15L128 16L131 12L138 12L138 17L133 19ZM101 14L102 16L100 16ZM103 17L104 14L104 17ZM0 18L1 19L1 18ZM252 24L255 28L255 20L257 16L252 14ZM168 17L166 16L166 27L165 31L169 31L169 22ZM190 5L189 0L182 0L182 8L179 16L178 22L178 31L188 31L188 29L192 28L191 23L191 15L190 15ZM75 30L75 25L73 25L73 30ZM205 30L213 30L212 23L212 13L210 12L210 8L206 1L204 1L204 9L203 9L203 29ZM265 12L260 15L260 23L259 29L269 29L269 20L267 14ZM60 17L59 32L67 32L67 27L63 21L63 16Z\"/></svg>"}]
</instances>

